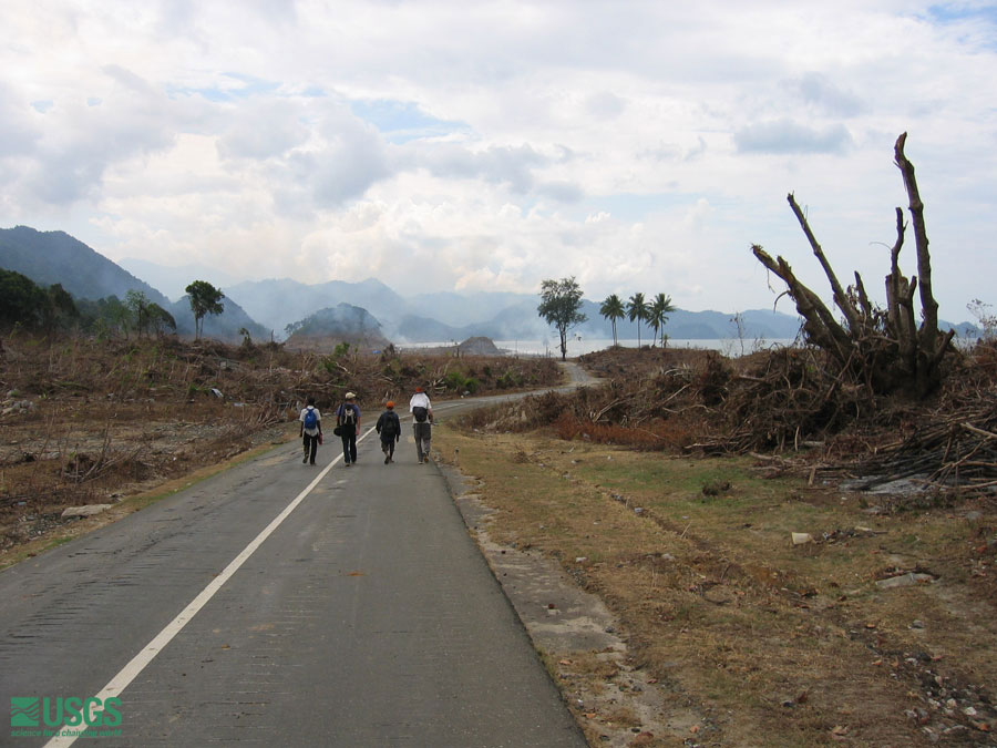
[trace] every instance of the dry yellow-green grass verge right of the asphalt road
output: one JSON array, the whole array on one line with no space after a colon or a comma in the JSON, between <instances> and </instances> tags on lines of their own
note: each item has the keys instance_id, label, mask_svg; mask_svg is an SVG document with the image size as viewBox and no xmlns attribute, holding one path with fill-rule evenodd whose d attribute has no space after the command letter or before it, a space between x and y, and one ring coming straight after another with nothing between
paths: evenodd
<instances>
[{"instance_id":1,"label":"dry yellow-green grass verge right of the asphalt road","mask_svg":"<svg viewBox=\"0 0 997 748\"><path fill-rule=\"evenodd\" d=\"M973 556L997 526L986 504L875 513L834 485L763 478L751 458L445 424L434 436L483 482L492 540L559 559L598 594L643 666L696 705L703 742L928 745L925 726L956 726L986 745L997 600ZM906 572L937 582L875 584ZM943 690L947 713L931 701ZM912 719L917 708L927 718Z\"/></svg>"}]
</instances>

